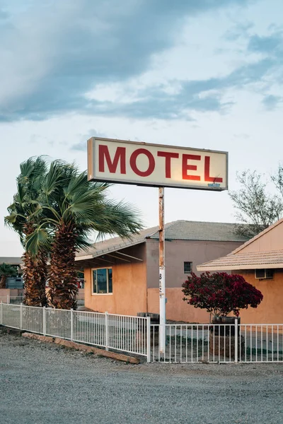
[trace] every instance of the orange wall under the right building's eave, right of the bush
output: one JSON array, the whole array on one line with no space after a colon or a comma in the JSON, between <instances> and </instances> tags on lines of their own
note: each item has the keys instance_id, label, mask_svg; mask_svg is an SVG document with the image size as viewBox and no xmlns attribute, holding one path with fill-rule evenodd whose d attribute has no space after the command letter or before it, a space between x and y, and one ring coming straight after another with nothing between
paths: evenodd
<instances>
[{"instance_id":1,"label":"orange wall under the right building's eave, right of the bush","mask_svg":"<svg viewBox=\"0 0 283 424\"><path fill-rule=\"evenodd\" d=\"M234 271L248 283L253 284L263 295L263 300L257 308L241 310L243 324L282 324L283 323L283 271L275 270L273 280L255 279L255 271Z\"/></svg>"}]
</instances>

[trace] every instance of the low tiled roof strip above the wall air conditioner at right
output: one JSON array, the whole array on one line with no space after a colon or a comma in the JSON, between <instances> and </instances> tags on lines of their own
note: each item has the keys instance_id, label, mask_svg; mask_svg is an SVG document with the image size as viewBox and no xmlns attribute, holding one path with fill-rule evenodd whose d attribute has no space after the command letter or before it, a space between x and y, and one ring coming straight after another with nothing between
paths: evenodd
<instances>
[{"instance_id":1,"label":"low tiled roof strip above the wall air conditioner at right","mask_svg":"<svg viewBox=\"0 0 283 424\"><path fill-rule=\"evenodd\" d=\"M283 268L283 249L272 252L227 254L197 266L197 271L231 271L233 269Z\"/></svg>"}]
</instances>

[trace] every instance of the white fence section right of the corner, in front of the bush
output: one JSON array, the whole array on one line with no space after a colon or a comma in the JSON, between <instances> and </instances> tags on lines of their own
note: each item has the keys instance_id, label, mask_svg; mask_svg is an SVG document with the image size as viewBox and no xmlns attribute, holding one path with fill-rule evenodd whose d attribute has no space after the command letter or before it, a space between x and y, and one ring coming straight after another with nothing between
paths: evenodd
<instances>
[{"instance_id":1,"label":"white fence section right of the corner, in front of the bush","mask_svg":"<svg viewBox=\"0 0 283 424\"><path fill-rule=\"evenodd\" d=\"M168 324L160 351L160 325L151 325L151 362L283 362L283 324Z\"/></svg>"}]
</instances>

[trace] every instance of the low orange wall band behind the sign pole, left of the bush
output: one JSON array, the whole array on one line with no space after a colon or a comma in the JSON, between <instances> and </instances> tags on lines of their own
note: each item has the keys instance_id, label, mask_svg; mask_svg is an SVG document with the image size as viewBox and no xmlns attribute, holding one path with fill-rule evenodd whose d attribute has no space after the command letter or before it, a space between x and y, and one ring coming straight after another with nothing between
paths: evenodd
<instances>
[{"instance_id":1,"label":"low orange wall band behind the sign pole, left of the bush","mask_svg":"<svg viewBox=\"0 0 283 424\"><path fill-rule=\"evenodd\" d=\"M205 310L187 305L183 301L181 288L166 288L166 318L173 321L209 323L209 314ZM159 289L147 289L148 312L159 313Z\"/></svg>"}]
</instances>

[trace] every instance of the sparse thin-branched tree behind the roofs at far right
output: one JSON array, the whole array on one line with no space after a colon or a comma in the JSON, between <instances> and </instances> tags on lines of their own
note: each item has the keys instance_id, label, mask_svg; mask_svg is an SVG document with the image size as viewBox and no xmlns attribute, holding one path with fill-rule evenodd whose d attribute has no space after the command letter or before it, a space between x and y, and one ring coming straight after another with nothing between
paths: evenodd
<instances>
[{"instance_id":1,"label":"sparse thin-branched tree behind the roofs at far right","mask_svg":"<svg viewBox=\"0 0 283 424\"><path fill-rule=\"evenodd\" d=\"M283 216L283 169L271 177L277 194L268 191L268 181L258 172L246 170L237 174L241 188L229 192L236 208L236 218L243 223L237 225L239 235L253 237Z\"/></svg>"}]
</instances>

